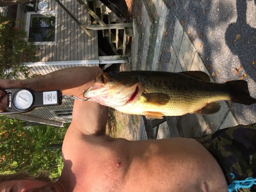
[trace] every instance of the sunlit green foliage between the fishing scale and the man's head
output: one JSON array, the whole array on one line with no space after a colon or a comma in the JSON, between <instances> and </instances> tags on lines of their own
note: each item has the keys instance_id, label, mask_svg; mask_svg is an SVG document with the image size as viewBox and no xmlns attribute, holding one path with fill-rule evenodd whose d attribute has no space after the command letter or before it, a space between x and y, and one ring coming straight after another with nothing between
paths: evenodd
<instances>
[{"instance_id":1,"label":"sunlit green foliage between the fishing scale and the man's head","mask_svg":"<svg viewBox=\"0 0 256 192\"><path fill-rule=\"evenodd\" d=\"M0 173L45 170L52 178L60 176L60 146L67 126L30 125L4 116L0 122Z\"/></svg>"}]
</instances>

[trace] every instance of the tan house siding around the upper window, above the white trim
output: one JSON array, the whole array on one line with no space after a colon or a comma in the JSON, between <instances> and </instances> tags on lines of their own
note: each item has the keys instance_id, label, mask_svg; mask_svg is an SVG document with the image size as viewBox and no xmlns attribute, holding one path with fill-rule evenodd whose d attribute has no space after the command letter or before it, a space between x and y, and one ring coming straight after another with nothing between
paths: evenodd
<instances>
[{"instance_id":1,"label":"tan house siding around the upper window, above the white trim","mask_svg":"<svg viewBox=\"0 0 256 192\"><path fill-rule=\"evenodd\" d=\"M70 15L54 0L48 3L47 10L57 11L57 43L47 45L36 45L38 61L73 61L73 60L96 60L98 55L97 31L91 30L89 37ZM60 0L60 2L71 12L83 26L90 25L90 17L87 11L74 0ZM22 29L22 24L27 19L26 5L19 5L17 19L21 20L17 27ZM39 12L39 10L38 10Z\"/></svg>"}]
</instances>

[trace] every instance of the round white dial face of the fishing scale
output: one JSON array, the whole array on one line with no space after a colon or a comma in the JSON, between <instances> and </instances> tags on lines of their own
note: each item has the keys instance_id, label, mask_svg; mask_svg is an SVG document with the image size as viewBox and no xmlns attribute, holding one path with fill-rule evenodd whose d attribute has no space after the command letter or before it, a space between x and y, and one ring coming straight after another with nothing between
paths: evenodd
<instances>
[{"instance_id":1,"label":"round white dial face of the fishing scale","mask_svg":"<svg viewBox=\"0 0 256 192\"><path fill-rule=\"evenodd\" d=\"M19 110L28 109L33 103L33 95L28 90L21 90L14 95L13 105Z\"/></svg>"}]
</instances>

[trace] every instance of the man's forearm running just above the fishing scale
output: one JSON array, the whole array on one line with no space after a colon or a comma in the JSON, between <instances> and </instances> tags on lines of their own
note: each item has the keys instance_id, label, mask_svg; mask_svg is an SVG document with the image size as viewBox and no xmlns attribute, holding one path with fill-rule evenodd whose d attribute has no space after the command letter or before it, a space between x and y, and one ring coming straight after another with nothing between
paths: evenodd
<instances>
[{"instance_id":1,"label":"man's forearm running just above the fishing scale","mask_svg":"<svg viewBox=\"0 0 256 192\"><path fill-rule=\"evenodd\" d=\"M4 79L0 88L26 87L34 91L60 89L64 94L81 94L83 87L93 84L98 73L102 73L99 67L71 67L21 81Z\"/></svg>"}]
</instances>

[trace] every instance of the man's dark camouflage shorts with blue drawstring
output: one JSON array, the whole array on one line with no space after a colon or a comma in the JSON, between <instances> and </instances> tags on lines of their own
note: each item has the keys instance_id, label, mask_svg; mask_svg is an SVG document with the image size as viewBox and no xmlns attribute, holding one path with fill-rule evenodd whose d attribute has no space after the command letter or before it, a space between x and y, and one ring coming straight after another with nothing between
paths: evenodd
<instances>
[{"instance_id":1,"label":"man's dark camouflage shorts with blue drawstring","mask_svg":"<svg viewBox=\"0 0 256 192\"><path fill-rule=\"evenodd\" d=\"M218 161L228 185L234 180L256 178L256 123L218 130L202 138L195 138ZM231 177L234 173L235 179ZM238 191L256 191L250 189Z\"/></svg>"}]
</instances>

